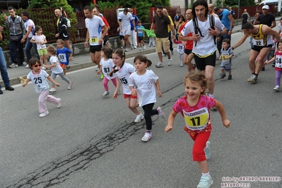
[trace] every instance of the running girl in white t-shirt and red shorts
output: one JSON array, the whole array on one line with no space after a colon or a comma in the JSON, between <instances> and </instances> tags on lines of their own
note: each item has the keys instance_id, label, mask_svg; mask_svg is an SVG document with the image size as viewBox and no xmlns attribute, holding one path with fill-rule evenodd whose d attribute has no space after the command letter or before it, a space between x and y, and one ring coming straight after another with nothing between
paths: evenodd
<instances>
[{"instance_id":1,"label":"running girl in white t-shirt and red shorts","mask_svg":"<svg viewBox=\"0 0 282 188\"><path fill-rule=\"evenodd\" d=\"M114 61L114 68L110 76L113 73L116 74L119 81L117 82L117 88L114 91L113 98L117 99L117 95L119 94L119 88L122 84L124 99L127 102L127 107L136 114L136 119L134 122L141 122L144 119L143 114L137 110L138 107L138 100L137 96L131 95L131 90L129 88L129 76L130 74L135 72L135 68L133 65L128 64L125 61L125 53L123 49L116 49L112 53L112 61Z\"/></svg>"}]
</instances>

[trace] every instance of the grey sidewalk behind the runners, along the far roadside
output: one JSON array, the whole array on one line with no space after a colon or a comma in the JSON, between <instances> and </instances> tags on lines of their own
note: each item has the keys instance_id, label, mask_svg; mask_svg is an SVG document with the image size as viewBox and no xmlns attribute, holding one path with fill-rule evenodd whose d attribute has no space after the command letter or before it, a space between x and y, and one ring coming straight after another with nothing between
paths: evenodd
<instances>
[{"instance_id":1,"label":"grey sidewalk behind the runners, along the far roadside","mask_svg":"<svg viewBox=\"0 0 282 188\"><path fill-rule=\"evenodd\" d=\"M280 17L276 17L276 21L280 20ZM233 28L233 34L239 33L241 31L241 25L235 25ZM173 47L175 48L176 45L174 44ZM176 49L174 50L175 54ZM131 49L129 52L126 52L126 58L135 57L138 54L150 54L155 52L154 47L148 47L148 44L146 44L145 50L139 50L139 48ZM74 61L70 61L71 68L68 71L75 71L77 69L83 69L89 66L95 66L93 62L90 59L90 54L82 54L82 55L75 55ZM23 76L26 78L28 73L30 72L30 69L25 68L24 66L18 66L17 68L9 68L8 69L8 76L10 78L11 85L20 83L20 76ZM48 74L51 74L51 70L47 70ZM0 80L1 86L4 86L4 83L2 81L2 78Z\"/></svg>"}]
</instances>

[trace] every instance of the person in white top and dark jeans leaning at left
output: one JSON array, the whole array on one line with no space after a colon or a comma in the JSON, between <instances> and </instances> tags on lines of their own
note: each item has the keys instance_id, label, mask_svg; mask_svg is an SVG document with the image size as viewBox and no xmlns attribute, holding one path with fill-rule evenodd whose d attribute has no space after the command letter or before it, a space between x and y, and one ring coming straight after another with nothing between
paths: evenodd
<instances>
[{"instance_id":1,"label":"person in white top and dark jeans leaning at left","mask_svg":"<svg viewBox=\"0 0 282 188\"><path fill-rule=\"evenodd\" d=\"M23 21L25 22L25 36L23 38L26 39L26 43L25 43L25 55L26 58L28 59L28 61L30 61L32 57L31 53L30 53L30 49L33 47L33 50L36 54L37 59L40 59L40 56L37 52L37 45L35 43L31 43L30 40L33 37L33 35L35 35L35 24L33 23L33 20L30 19L30 13L23 11L22 13L20 13L21 18L23 18ZM24 39L22 39L20 42L25 42ZM26 64L25 66L26 68L29 68L28 64Z\"/></svg>"}]
</instances>

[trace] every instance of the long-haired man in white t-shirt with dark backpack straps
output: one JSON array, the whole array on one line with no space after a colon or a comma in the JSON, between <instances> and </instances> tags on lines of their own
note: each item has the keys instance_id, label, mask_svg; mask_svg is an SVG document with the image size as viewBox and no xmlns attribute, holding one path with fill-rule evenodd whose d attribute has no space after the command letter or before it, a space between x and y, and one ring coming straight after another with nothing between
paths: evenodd
<instances>
[{"instance_id":1,"label":"long-haired man in white t-shirt with dark backpack straps","mask_svg":"<svg viewBox=\"0 0 282 188\"><path fill-rule=\"evenodd\" d=\"M194 22L185 24L179 35L179 40L193 40L194 45L192 53L199 71L204 71L208 82L209 96L213 98L214 80L213 71L216 66L216 44L214 36L224 35L227 30L221 23L221 20L214 17L214 28L211 28L208 15L208 4L205 0L195 1L192 7L193 18L198 21L198 31L195 33ZM192 37L187 37L188 33L193 33Z\"/></svg>"}]
</instances>

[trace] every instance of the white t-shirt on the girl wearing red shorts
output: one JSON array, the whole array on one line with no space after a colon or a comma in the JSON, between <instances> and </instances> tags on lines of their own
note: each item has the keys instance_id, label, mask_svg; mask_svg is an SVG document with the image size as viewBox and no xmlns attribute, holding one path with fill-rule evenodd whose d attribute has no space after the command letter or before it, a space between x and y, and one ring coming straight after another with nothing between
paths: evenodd
<instances>
[{"instance_id":1,"label":"white t-shirt on the girl wearing red shorts","mask_svg":"<svg viewBox=\"0 0 282 188\"><path fill-rule=\"evenodd\" d=\"M118 69L117 67L115 69ZM124 94L131 95L131 90L129 89L129 76L135 72L135 67L132 64L124 63L122 69L119 69L115 73L119 81L122 83L122 88Z\"/></svg>"}]
</instances>

